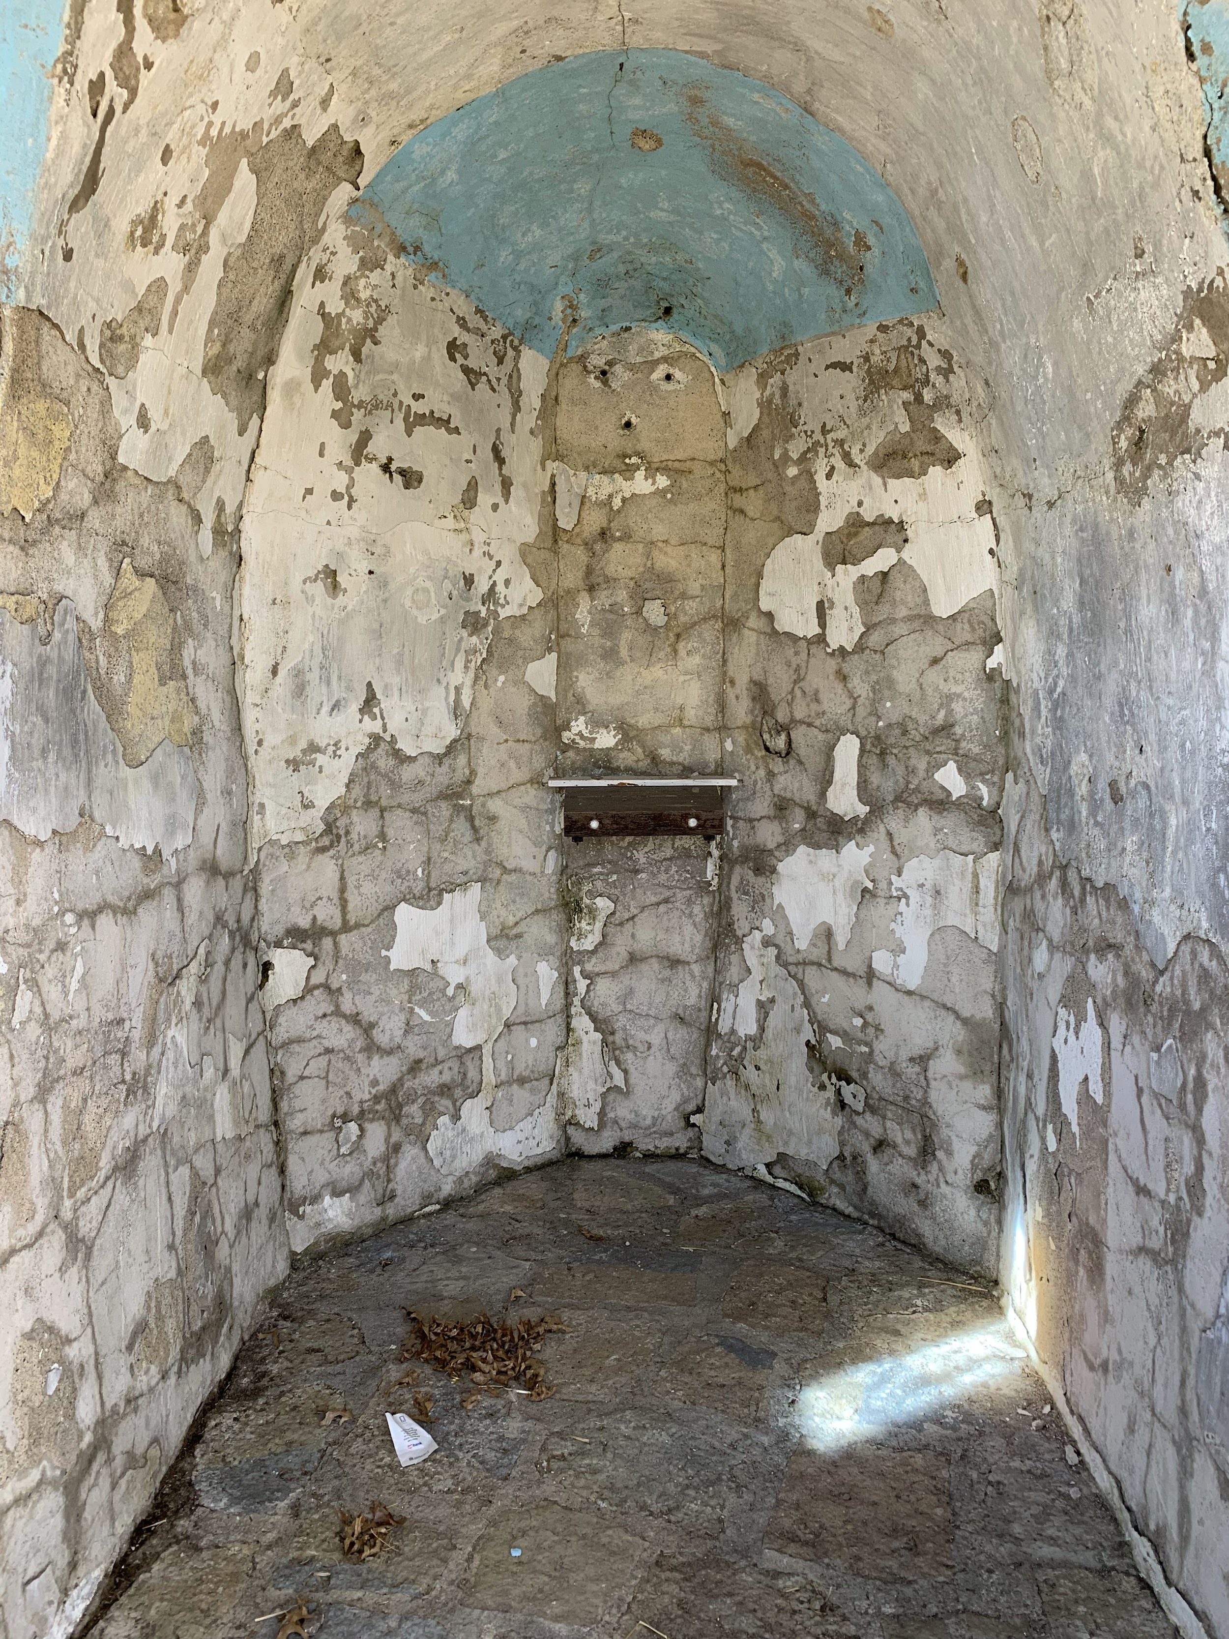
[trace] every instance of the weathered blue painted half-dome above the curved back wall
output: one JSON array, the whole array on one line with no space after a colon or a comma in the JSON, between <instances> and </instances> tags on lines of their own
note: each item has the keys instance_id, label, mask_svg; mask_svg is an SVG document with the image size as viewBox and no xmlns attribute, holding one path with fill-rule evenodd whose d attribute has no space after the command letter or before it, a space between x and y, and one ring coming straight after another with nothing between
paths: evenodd
<instances>
[{"instance_id":1,"label":"weathered blue painted half-dome above the curved back wall","mask_svg":"<svg viewBox=\"0 0 1229 1639\"><path fill-rule=\"evenodd\" d=\"M364 188L433 279L539 352L624 325L731 369L921 313L934 279L903 205L834 131L682 51L536 69L413 136Z\"/></svg>"}]
</instances>

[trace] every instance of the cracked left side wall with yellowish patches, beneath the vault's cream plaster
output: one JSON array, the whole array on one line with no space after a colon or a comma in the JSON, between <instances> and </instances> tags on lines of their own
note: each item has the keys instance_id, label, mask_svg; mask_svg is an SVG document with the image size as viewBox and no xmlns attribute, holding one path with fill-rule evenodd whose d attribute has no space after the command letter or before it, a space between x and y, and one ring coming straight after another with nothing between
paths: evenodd
<instances>
[{"instance_id":1,"label":"cracked left side wall with yellowish patches, beneath the vault's cream plaster","mask_svg":"<svg viewBox=\"0 0 1229 1639\"><path fill-rule=\"evenodd\" d=\"M48 438L48 428L56 438ZM0 308L0 1631L67 1632L285 1267L231 585Z\"/></svg>"}]
</instances>

